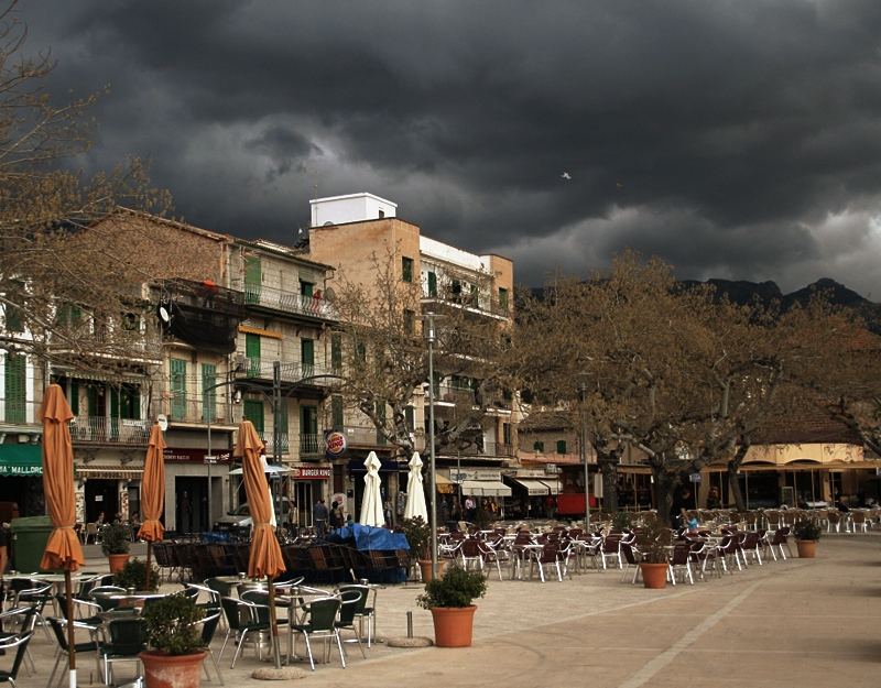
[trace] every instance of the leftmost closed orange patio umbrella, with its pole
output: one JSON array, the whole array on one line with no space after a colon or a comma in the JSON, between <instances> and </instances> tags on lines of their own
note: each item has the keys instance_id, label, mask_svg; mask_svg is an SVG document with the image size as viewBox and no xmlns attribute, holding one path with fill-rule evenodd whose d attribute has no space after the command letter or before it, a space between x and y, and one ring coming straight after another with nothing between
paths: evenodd
<instances>
[{"instance_id":1,"label":"leftmost closed orange patio umbrella, with its pole","mask_svg":"<svg viewBox=\"0 0 881 688\"><path fill-rule=\"evenodd\" d=\"M76 507L74 498L74 449L67 423L74 417L64 392L51 384L43 396L40 419L43 423L43 493L52 521L52 533L40 561L43 569L64 569L64 593L67 619L74 618L70 571L85 564L79 538L74 532ZM67 624L67 654L70 688L76 686L76 643L74 624Z\"/></svg>"}]
</instances>

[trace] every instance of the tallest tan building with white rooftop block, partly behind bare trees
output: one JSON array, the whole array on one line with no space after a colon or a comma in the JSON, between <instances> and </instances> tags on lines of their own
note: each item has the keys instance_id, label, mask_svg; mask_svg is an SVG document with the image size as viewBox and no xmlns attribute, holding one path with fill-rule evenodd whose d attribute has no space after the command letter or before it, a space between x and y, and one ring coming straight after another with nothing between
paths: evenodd
<instances>
[{"instance_id":1,"label":"tallest tan building with white rooftop block, partly behind bare trees","mask_svg":"<svg viewBox=\"0 0 881 688\"><path fill-rule=\"evenodd\" d=\"M418 226L396 217L396 205L371 194L351 194L311 201L312 228L308 233L309 258L331 264L351 283L369 288L373 284L376 258L389 255L403 282L420 281L422 312L444 314L452 310L475 319L512 321L513 264L499 255L476 255L456 247L429 239ZM414 317L418 314L413 314ZM467 352L463 352L463 358ZM465 367L455 374L439 370L435 380L435 435L439 438L445 425L455 425L456 413L467 407L482 408L472 429L472 441L456 450L443 443L437 447L437 471L444 491L461 483L461 492L480 496L503 498L510 488L501 482L501 469L514 457L512 395L498 403L481 404L475 398L476 381L480 376L479 361L470 370ZM425 437L428 426L427 385L413 390L407 408L407 424L416 437ZM380 456L384 494L396 504L395 494L405 488L406 468L401 457L387 446L376 427L347 404L337 403L334 425L341 427L348 440L345 459L347 477L336 483L338 492L349 495L348 509L357 510L361 491L363 459L373 450ZM417 448L425 449L427 443ZM459 443L458 446L463 446ZM355 496L355 500L352 499Z\"/></svg>"}]
</instances>

